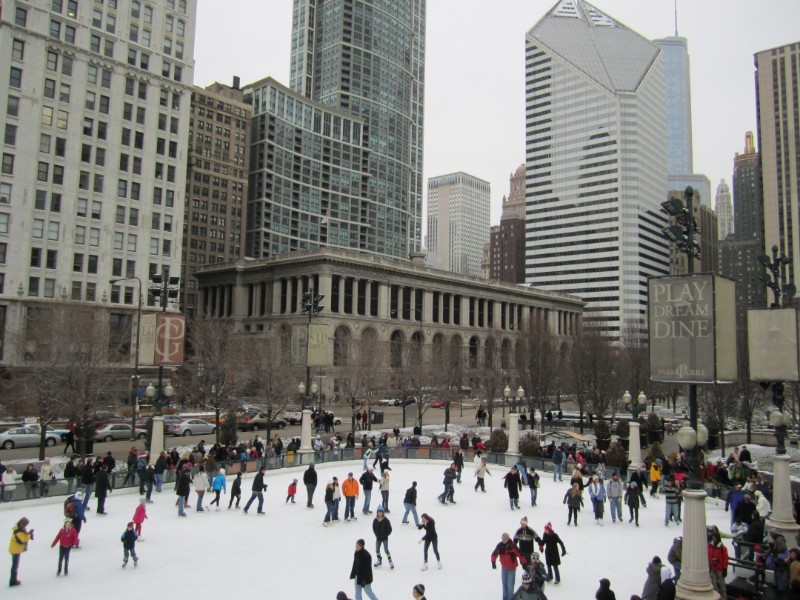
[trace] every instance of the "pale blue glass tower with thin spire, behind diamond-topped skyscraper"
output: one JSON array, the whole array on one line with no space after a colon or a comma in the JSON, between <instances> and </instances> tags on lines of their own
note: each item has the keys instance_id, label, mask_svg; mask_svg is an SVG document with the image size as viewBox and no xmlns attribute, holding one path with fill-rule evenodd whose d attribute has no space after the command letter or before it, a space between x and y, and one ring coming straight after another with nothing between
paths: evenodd
<instances>
[{"instance_id":1,"label":"pale blue glass tower with thin spire, behind diamond-topped skyscraper","mask_svg":"<svg viewBox=\"0 0 800 600\"><path fill-rule=\"evenodd\" d=\"M711 182L705 175L694 173L692 150L692 85L689 68L689 45L678 35L677 14L675 35L654 40L661 48L667 117L667 187L684 190L692 186L700 199L711 206Z\"/></svg>"}]
</instances>

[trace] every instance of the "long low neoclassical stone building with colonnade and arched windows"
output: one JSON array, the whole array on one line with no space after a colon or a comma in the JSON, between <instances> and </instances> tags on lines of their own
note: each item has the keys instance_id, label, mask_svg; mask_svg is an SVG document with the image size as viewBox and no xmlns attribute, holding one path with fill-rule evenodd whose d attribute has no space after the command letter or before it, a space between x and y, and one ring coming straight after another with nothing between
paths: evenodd
<instances>
[{"instance_id":1,"label":"long low neoclassical stone building with colonnade and arched windows","mask_svg":"<svg viewBox=\"0 0 800 600\"><path fill-rule=\"evenodd\" d=\"M433 269L422 254L403 261L331 247L208 265L196 276L198 315L230 319L237 331L258 334L306 323L302 297L313 289L325 296L314 322L328 325L333 338L330 366L337 366L336 341L357 343L367 336L410 341L423 360L438 346L458 346L469 385L478 383L469 369L483 366L487 350L509 356L518 332L534 319L546 322L557 338L575 335L585 305L560 292Z\"/></svg>"}]
</instances>

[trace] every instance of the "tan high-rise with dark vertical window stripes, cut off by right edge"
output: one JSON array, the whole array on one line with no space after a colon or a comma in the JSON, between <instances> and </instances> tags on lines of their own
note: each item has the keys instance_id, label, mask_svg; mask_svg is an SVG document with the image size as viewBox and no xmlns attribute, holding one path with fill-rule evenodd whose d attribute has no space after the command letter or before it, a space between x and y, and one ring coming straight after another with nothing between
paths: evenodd
<instances>
[{"instance_id":1,"label":"tan high-rise with dark vertical window stripes, cut off by right edge","mask_svg":"<svg viewBox=\"0 0 800 600\"><path fill-rule=\"evenodd\" d=\"M758 147L764 207L764 247L789 257L788 281L800 283L800 43L755 55Z\"/></svg>"}]
</instances>

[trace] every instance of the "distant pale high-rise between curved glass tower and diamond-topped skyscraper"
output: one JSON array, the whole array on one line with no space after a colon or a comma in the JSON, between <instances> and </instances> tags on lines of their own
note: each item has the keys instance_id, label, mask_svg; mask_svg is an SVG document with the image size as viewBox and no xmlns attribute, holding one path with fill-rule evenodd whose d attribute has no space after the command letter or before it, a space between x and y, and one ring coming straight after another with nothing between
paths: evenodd
<instances>
[{"instance_id":1,"label":"distant pale high-rise between curved glass tower and diamond-topped skyscraper","mask_svg":"<svg viewBox=\"0 0 800 600\"><path fill-rule=\"evenodd\" d=\"M481 276L483 245L489 240L489 183L451 173L428 180L428 262L437 268Z\"/></svg>"}]
</instances>

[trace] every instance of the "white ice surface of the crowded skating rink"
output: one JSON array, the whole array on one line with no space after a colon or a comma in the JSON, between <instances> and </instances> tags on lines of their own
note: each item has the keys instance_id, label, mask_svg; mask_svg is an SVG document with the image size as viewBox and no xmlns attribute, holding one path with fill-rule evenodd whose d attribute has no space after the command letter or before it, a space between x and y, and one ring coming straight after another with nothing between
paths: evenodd
<instances>
[{"instance_id":1,"label":"white ice surface of the crowded skating rink","mask_svg":"<svg viewBox=\"0 0 800 600\"><path fill-rule=\"evenodd\" d=\"M500 570L499 567L497 571L492 570L490 554L501 534L509 532L513 536L520 518L526 515L539 534L543 533L544 525L551 522L567 548L568 554L562 559L561 584L546 586L550 600L593 598L602 577L611 580L618 598L628 598L631 594L641 594L647 563L654 555L666 562L673 537L682 533L676 525L664 526L663 499L649 501L647 508L640 509L641 526L636 528L627 518L623 523L612 524L608 510L603 525L595 525L586 498L580 526L567 527L567 511L562 504L567 483L554 483L552 476L548 478L546 473L542 473L538 505L530 506L525 489L520 503L522 509L512 511L503 488L505 469L497 466L491 467L492 476L486 478L484 494L473 491L475 479L468 465L463 483L456 484L457 504L443 506L436 496L442 491L445 467L443 462L392 461L391 512L387 516L394 528L389 546L396 568L393 571L387 566L374 569L373 590L378 598L411 598L412 586L420 582L426 586L426 596L437 600L500 597ZM19 577L23 585L11 593L24 590L27 597L33 598L81 594L140 600L150 594L159 597L200 594L203 598L216 598L252 591L267 598L324 600L333 599L338 590L344 590L353 597L349 575L354 543L364 538L374 558L373 515L361 514L359 502L357 521L323 527L323 488L334 475L339 481L348 471L360 475L361 461L319 467L320 485L313 510L305 507L303 470L268 474L267 515L264 517L257 516L252 508L249 515L227 510L228 496L223 496L220 512L200 514L192 510L187 518L179 518L171 488L154 494L155 503L148 506L149 519L144 524L146 541L137 544L138 569L132 566L121 569L119 539L133 516L138 496L122 490L111 494L106 502L109 513L106 517L95 515L96 502L92 499L93 510L87 513L89 522L83 527L81 549L72 553L67 578L56 577L57 550L50 548L63 522L63 498L29 504L0 504L0 520L7 534L23 516L30 519L36 531L35 540L21 560ZM250 496L252 477L248 475L242 486L242 506ZM297 504L286 504L286 490L295 477L300 480ZM417 541L422 534L414 527L413 520L410 525L400 523L403 495L412 481L418 482L418 513L427 512L436 520L442 570L436 569L431 556L432 568L420 571L422 546ZM230 486L230 478L228 484ZM379 499L380 493L374 490L373 510ZM194 501L192 493L193 505ZM720 529L728 531L729 519L722 502L709 499L706 506L709 523L718 523ZM340 518L343 516L344 503ZM6 557L3 559L5 573L8 573L9 555L3 555ZM518 573L517 585L520 576Z\"/></svg>"}]
</instances>

